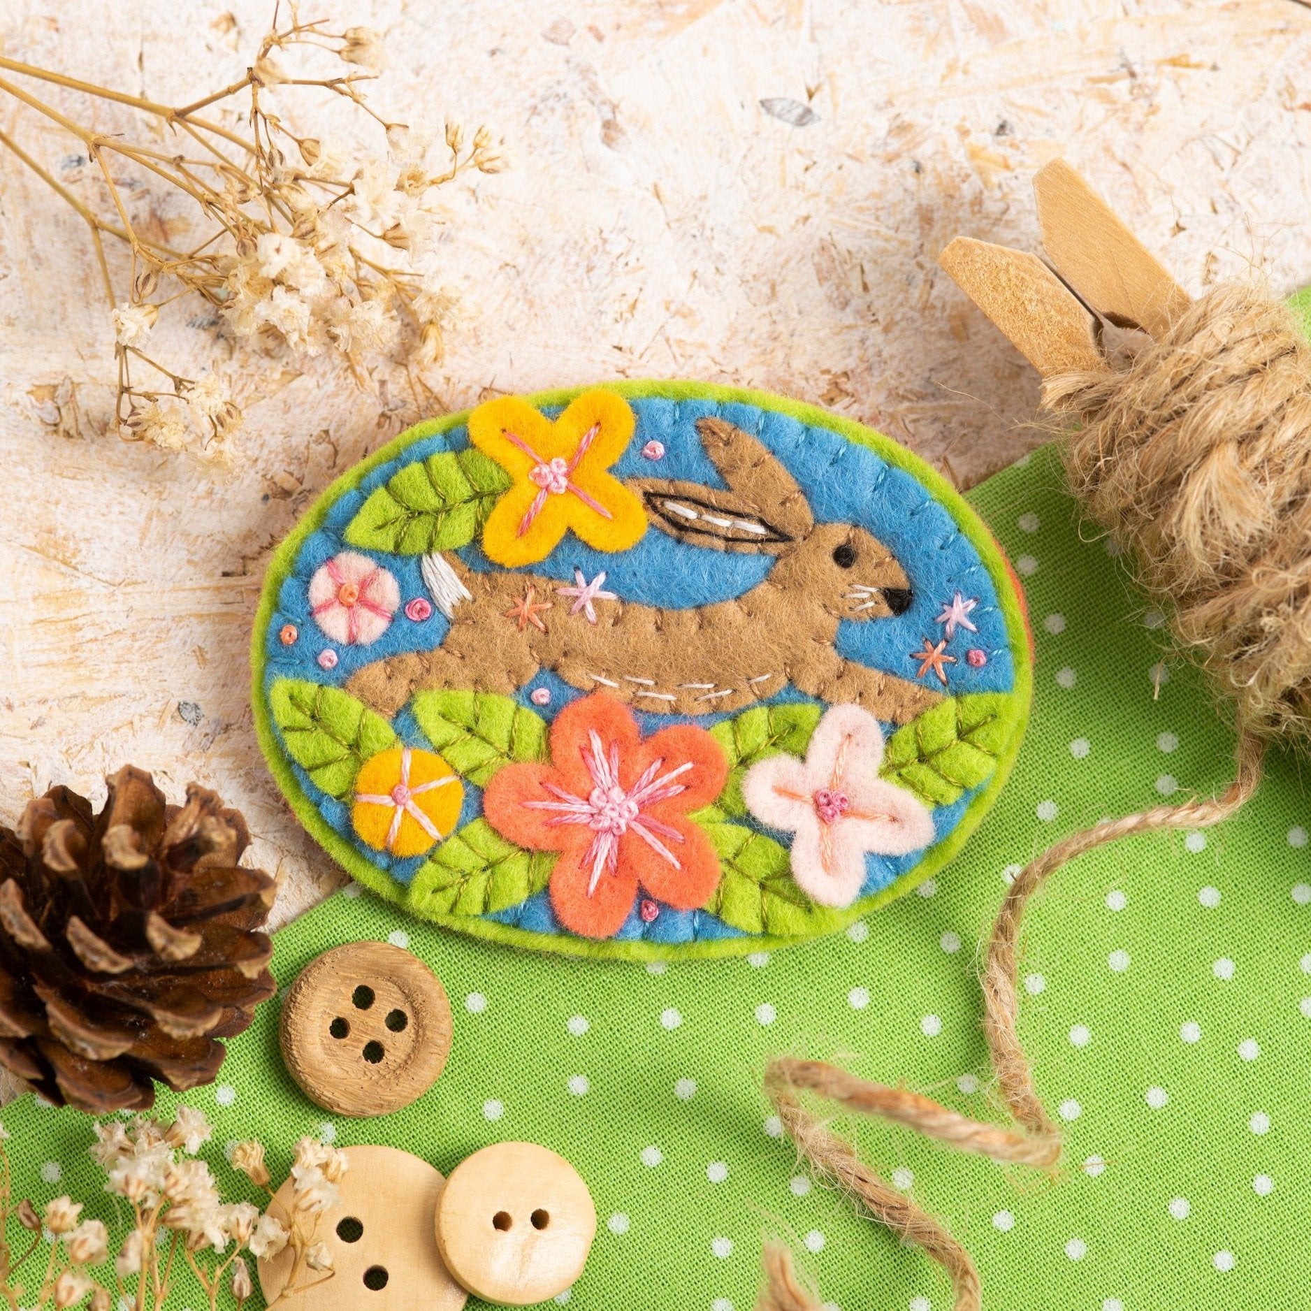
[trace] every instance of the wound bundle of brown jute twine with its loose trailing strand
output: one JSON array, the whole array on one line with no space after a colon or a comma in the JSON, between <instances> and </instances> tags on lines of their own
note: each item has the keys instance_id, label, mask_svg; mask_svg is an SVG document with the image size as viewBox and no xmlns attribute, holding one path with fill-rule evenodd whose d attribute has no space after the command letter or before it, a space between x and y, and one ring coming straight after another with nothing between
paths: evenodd
<instances>
[{"instance_id":1,"label":"wound bundle of brown jute twine with its loose trailing strand","mask_svg":"<svg viewBox=\"0 0 1311 1311\"><path fill-rule=\"evenodd\" d=\"M1134 334L1108 368L1049 378L1070 486L1125 548L1142 591L1167 615L1232 716L1234 781L1210 798L1154 806L1071 834L1007 890L983 966L983 1029L1013 1127L961 1116L928 1097L814 1061L775 1061L766 1089L800 1154L874 1218L939 1261L956 1311L978 1311L964 1248L933 1217L878 1179L850 1143L805 1110L812 1092L878 1114L962 1151L1055 1169L1061 1131L1020 1045L1019 944L1029 898L1062 865L1120 838L1206 829L1256 792L1265 747L1304 745L1311 726L1311 346L1289 308L1245 284L1193 302L1155 341ZM787 1248L764 1257L759 1311L819 1311Z\"/></svg>"}]
</instances>

